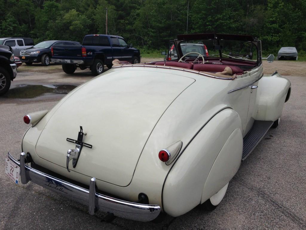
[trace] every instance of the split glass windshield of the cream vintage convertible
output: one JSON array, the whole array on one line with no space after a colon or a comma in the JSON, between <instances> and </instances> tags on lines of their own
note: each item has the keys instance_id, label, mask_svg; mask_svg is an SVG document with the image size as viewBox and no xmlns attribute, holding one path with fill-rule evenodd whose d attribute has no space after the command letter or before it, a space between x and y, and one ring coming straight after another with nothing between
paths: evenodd
<instances>
[{"instance_id":1,"label":"split glass windshield of the cream vintage convertible","mask_svg":"<svg viewBox=\"0 0 306 230\"><path fill-rule=\"evenodd\" d=\"M248 61L257 61L257 48L252 42L234 41L234 40L193 40L182 41L180 43L183 55L189 52L197 52L204 57L220 57L221 50L222 58L242 59ZM206 52L207 49L207 52ZM197 54L187 55L188 57L196 57Z\"/></svg>"}]
</instances>

